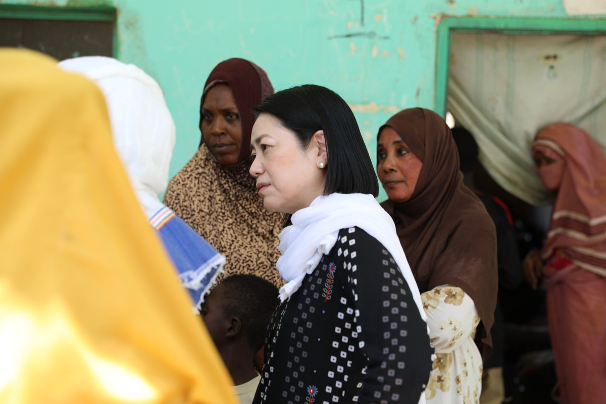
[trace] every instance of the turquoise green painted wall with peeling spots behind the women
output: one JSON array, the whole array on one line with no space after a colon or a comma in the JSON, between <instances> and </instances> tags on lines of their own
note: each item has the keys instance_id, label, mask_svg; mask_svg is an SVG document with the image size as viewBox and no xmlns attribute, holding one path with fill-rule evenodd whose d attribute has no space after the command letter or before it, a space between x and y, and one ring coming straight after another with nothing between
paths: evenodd
<instances>
[{"instance_id":1,"label":"turquoise green painted wall with peeling spots behind the women","mask_svg":"<svg viewBox=\"0 0 606 404\"><path fill-rule=\"evenodd\" d=\"M175 118L178 140L171 174L198 146L199 96L211 68L224 59L256 62L267 70L276 90L314 83L341 94L355 111L374 161L376 131L390 114L407 107L434 106L436 31L441 15L567 18L562 0L0 3L115 5L119 58L139 65L158 80Z\"/></svg>"}]
</instances>

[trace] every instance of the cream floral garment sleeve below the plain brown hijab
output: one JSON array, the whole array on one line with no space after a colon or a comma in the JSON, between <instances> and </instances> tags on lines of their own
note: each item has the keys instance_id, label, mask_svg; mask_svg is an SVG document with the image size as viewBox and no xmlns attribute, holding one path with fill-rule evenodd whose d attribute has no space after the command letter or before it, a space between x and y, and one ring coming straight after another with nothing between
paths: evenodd
<instances>
[{"instance_id":1,"label":"cream floral garment sleeve below the plain brown hijab","mask_svg":"<svg viewBox=\"0 0 606 404\"><path fill-rule=\"evenodd\" d=\"M473 339L480 322L471 297L445 285L421 294L436 359L425 389L427 403L478 403L482 356Z\"/></svg>"}]
</instances>

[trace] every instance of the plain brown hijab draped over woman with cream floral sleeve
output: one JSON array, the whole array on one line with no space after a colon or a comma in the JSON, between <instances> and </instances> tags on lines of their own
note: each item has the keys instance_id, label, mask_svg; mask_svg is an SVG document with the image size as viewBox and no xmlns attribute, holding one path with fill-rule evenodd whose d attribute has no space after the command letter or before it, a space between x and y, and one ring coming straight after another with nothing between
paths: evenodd
<instances>
[{"instance_id":1,"label":"plain brown hijab draped over woman with cream floral sleeve","mask_svg":"<svg viewBox=\"0 0 606 404\"><path fill-rule=\"evenodd\" d=\"M450 128L438 114L411 108L392 116L391 127L423 166L410 199L381 206L398 237L421 293L439 285L467 293L482 320L482 354L491 351L490 327L497 292L496 232L484 205L463 185Z\"/></svg>"}]
</instances>

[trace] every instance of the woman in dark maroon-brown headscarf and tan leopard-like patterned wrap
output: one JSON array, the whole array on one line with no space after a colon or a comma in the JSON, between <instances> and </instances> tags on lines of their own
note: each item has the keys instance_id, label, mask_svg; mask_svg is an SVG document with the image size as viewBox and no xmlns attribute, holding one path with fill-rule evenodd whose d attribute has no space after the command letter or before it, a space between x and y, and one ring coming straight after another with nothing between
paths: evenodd
<instances>
[{"instance_id":1,"label":"woman in dark maroon-brown headscarf and tan leopard-like patterned wrap","mask_svg":"<svg viewBox=\"0 0 606 404\"><path fill-rule=\"evenodd\" d=\"M276 286L282 216L268 213L250 176L253 108L273 87L244 59L219 63L200 102L200 147L168 184L164 204L227 258L228 274L255 274Z\"/></svg>"}]
</instances>

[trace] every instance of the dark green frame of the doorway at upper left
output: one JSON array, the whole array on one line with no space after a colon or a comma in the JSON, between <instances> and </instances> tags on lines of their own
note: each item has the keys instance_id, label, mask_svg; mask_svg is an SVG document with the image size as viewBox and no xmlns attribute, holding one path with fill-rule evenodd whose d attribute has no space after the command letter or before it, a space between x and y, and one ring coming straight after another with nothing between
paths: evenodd
<instances>
[{"instance_id":1,"label":"dark green frame of the doorway at upper left","mask_svg":"<svg viewBox=\"0 0 606 404\"><path fill-rule=\"evenodd\" d=\"M118 13L107 5L89 7L52 7L29 4L0 4L0 18L54 19L64 21L113 22L113 57L118 59Z\"/></svg>"}]
</instances>

